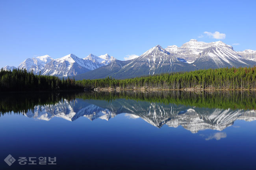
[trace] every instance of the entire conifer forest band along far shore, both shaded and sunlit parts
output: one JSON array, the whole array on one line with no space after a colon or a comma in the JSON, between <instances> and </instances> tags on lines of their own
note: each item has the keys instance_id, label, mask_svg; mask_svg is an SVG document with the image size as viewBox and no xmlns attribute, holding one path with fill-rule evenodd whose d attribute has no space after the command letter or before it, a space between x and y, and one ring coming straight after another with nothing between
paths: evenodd
<instances>
[{"instance_id":1,"label":"entire conifer forest band along far shore, both shaded and sunlit parts","mask_svg":"<svg viewBox=\"0 0 256 170\"><path fill-rule=\"evenodd\" d=\"M58 91L92 88L134 89L256 89L256 67L218 68L190 72L165 73L130 79L83 79L35 75L26 69L0 70L0 90L3 91Z\"/></svg>"}]
</instances>

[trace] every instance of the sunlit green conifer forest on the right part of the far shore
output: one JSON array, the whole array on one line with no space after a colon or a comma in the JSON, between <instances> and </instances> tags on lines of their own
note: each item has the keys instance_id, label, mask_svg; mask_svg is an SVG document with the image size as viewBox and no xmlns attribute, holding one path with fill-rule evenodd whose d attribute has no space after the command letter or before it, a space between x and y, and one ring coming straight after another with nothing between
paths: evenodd
<instances>
[{"instance_id":1,"label":"sunlit green conifer forest on the right part of the far shore","mask_svg":"<svg viewBox=\"0 0 256 170\"><path fill-rule=\"evenodd\" d=\"M214 89L256 89L256 67L217 68L190 72L165 73L155 76L143 76L131 79L83 79L76 81L87 89L90 88L214 88Z\"/></svg>"}]
</instances>

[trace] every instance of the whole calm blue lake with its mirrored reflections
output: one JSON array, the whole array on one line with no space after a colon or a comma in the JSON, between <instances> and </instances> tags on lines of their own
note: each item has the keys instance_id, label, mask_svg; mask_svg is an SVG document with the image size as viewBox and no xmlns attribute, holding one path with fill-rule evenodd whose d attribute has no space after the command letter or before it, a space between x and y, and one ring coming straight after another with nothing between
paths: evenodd
<instances>
[{"instance_id":1,"label":"whole calm blue lake with its mirrored reflections","mask_svg":"<svg viewBox=\"0 0 256 170\"><path fill-rule=\"evenodd\" d=\"M255 169L255 109L254 91L1 94L0 169Z\"/></svg>"}]
</instances>

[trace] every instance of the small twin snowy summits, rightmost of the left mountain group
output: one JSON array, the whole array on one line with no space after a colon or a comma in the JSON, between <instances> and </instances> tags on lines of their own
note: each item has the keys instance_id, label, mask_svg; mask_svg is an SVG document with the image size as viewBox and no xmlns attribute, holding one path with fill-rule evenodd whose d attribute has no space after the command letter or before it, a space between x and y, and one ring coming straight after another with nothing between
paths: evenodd
<instances>
[{"instance_id":1,"label":"small twin snowy summits, rightmost of the left mountain group","mask_svg":"<svg viewBox=\"0 0 256 170\"><path fill-rule=\"evenodd\" d=\"M111 61L114 61L115 58L113 56L110 56L108 54L105 55L100 55L100 56L96 56L93 54L89 54L87 57L84 58L85 60L91 60L94 63L96 63L97 65L99 65L99 67L102 67L104 65L108 65L109 63L111 63Z\"/></svg>"}]
</instances>

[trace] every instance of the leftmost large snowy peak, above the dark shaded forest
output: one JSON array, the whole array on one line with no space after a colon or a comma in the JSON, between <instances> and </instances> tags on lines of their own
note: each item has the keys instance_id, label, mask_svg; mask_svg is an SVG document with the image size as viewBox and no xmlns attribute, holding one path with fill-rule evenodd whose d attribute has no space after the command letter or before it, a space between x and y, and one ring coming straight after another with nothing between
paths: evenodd
<instances>
[{"instance_id":1,"label":"leftmost large snowy peak, above the dark shaded forest","mask_svg":"<svg viewBox=\"0 0 256 170\"><path fill-rule=\"evenodd\" d=\"M53 58L51 58L49 55L28 58L24 60L22 63L20 63L19 68L26 68L26 70L30 72L33 70L33 72L37 74L45 68L45 65L47 63L49 63L52 60Z\"/></svg>"}]
</instances>

